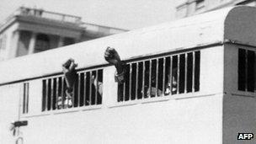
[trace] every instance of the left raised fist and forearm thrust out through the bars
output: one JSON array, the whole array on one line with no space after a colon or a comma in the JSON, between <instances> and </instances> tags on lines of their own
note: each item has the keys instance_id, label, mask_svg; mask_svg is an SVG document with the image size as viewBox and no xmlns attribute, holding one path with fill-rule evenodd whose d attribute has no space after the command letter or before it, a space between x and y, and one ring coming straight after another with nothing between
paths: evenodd
<instances>
[{"instance_id":1,"label":"left raised fist and forearm thrust out through the bars","mask_svg":"<svg viewBox=\"0 0 256 144\"><path fill-rule=\"evenodd\" d=\"M73 59L67 60L62 65L62 72L64 73L64 77L67 83L67 88L72 88L73 84L76 82L77 78L77 71L76 68L77 64Z\"/></svg>"}]
</instances>

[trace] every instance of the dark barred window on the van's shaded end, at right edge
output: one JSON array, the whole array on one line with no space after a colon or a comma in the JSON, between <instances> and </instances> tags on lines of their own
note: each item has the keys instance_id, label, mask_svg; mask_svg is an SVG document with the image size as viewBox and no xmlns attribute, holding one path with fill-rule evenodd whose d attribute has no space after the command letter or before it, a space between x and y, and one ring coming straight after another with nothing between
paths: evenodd
<instances>
[{"instance_id":1,"label":"dark barred window on the van's shaded end, at right edge","mask_svg":"<svg viewBox=\"0 0 256 144\"><path fill-rule=\"evenodd\" d=\"M255 92L255 51L238 49L238 90Z\"/></svg>"}]
</instances>

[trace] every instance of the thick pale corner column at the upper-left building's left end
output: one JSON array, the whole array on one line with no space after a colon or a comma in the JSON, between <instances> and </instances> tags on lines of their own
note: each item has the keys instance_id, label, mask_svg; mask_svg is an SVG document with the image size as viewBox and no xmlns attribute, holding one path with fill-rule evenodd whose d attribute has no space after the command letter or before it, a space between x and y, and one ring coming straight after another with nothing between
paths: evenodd
<instances>
[{"instance_id":1,"label":"thick pale corner column at the upper-left building's left end","mask_svg":"<svg viewBox=\"0 0 256 144\"><path fill-rule=\"evenodd\" d=\"M8 59L9 58L14 58L15 56L17 56L17 51L18 51L18 47L19 47L19 35L20 35L20 31L19 30L16 30L16 31L13 31L13 36L12 36L12 40L13 41L13 44L12 46L10 46L10 50L9 51L9 54L8 54Z\"/></svg>"}]
</instances>

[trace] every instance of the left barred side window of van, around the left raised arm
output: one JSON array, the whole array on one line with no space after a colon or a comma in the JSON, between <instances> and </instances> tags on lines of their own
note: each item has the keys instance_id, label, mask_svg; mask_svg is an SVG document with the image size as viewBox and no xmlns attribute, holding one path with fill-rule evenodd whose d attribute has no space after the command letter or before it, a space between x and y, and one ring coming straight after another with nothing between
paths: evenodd
<instances>
[{"instance_id":1,"label":"left barred side window of van, around the left raised arm","mask_svg":"<svg viewBox=\"0 0 256 144\"><path fill-rule=\"evenodd\" d=\"M46 78L42 83L42 111L76 108L102 103L102 69L78 72L73 94L71 95L66 93L67 84L62 76Z\"/></svg>"}]
</instances>

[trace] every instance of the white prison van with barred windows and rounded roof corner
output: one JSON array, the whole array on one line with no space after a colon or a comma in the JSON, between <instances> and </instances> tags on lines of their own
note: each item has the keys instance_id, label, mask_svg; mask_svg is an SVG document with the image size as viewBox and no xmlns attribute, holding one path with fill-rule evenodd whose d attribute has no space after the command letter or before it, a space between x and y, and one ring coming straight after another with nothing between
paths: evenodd
<instances>
[{"instance_id":1,"label":"white prison van with barred windows and rounded roof corner","mask_svg":"<svg viewBox=\"0 0 256 144\"><path fill-rule=\"evenodd\" d=\"M2 61L0 143L256 143L237 140L256 134L255 47L256 8L243 6Z\"/></svg>"}]
</instances>

